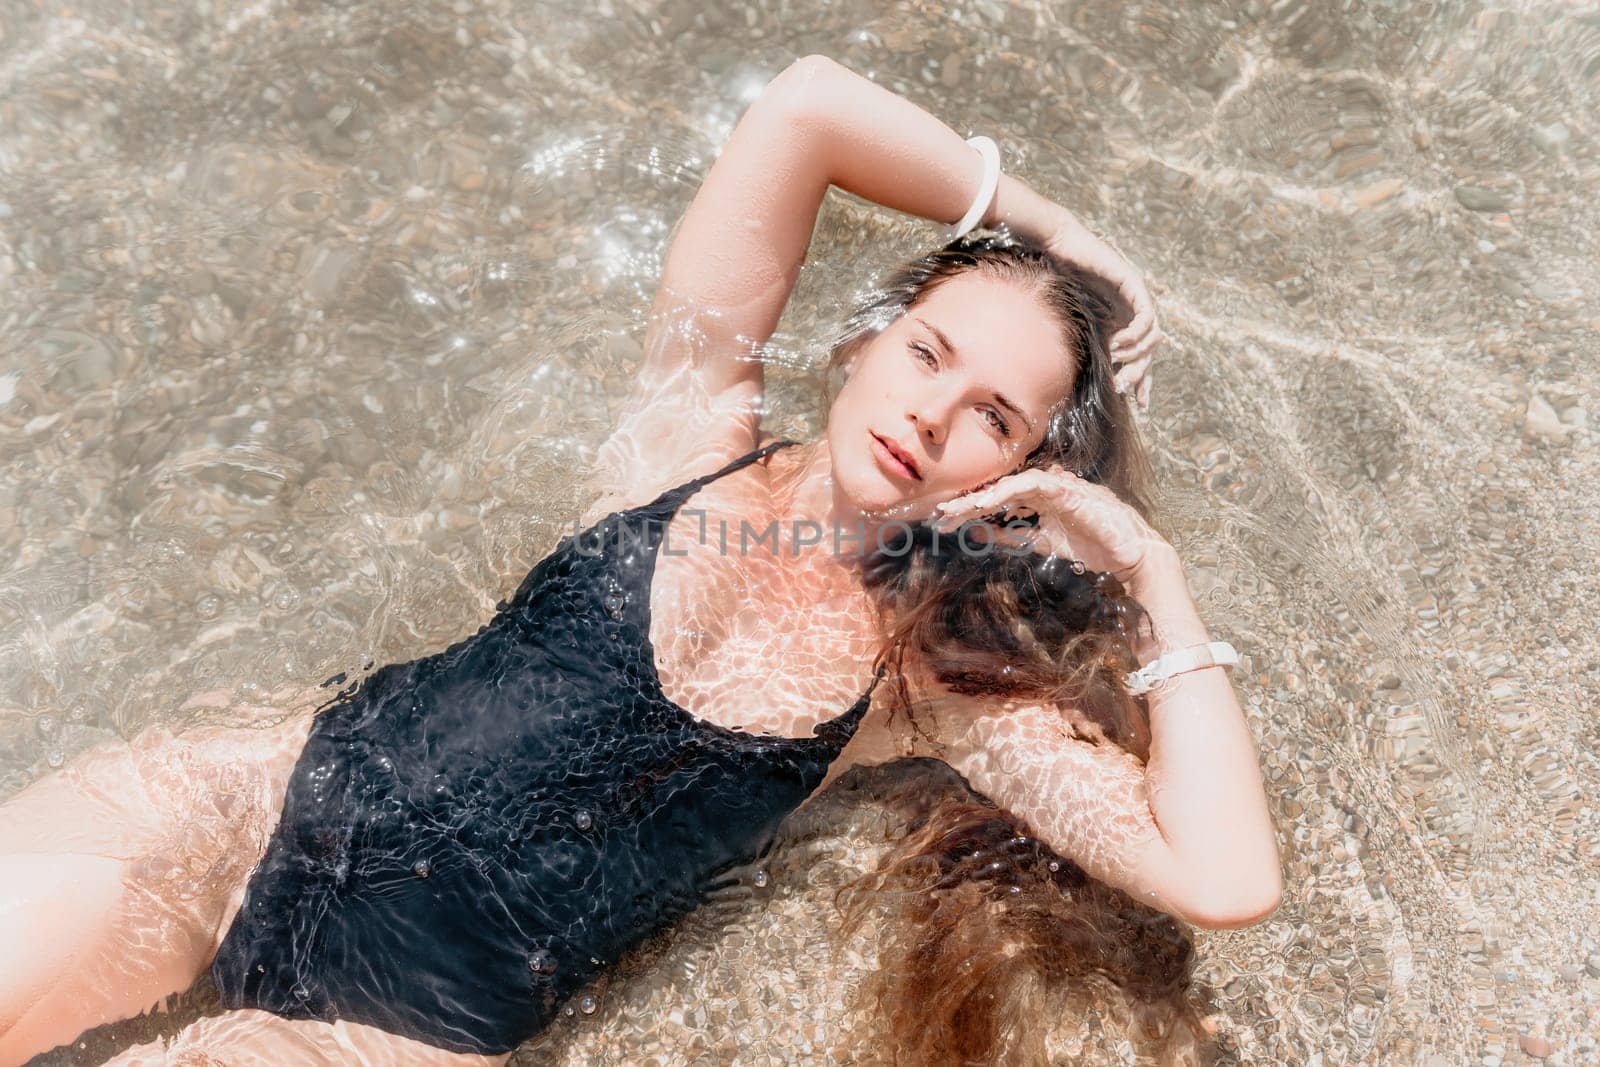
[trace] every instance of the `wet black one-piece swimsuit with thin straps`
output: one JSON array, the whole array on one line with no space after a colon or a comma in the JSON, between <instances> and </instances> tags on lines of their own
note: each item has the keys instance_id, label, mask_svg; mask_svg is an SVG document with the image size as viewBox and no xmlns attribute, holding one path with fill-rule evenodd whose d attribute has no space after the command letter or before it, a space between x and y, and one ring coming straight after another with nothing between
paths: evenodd
<instances>
[{"instance_id":1,"label":"wet black one-piece swimsuit with thin straps","mask_svg":"<svg viewBox=\"0 0 1600 1067\"><path fill-rule=\"evenodd\" d=\"M475 635L322 712L211 965L224 1005L507 1053L758 856L883 672L813 737L707 723L661 689L650 585L690 494L794 443L563 537Z\"/></svg>"}]
</instances>

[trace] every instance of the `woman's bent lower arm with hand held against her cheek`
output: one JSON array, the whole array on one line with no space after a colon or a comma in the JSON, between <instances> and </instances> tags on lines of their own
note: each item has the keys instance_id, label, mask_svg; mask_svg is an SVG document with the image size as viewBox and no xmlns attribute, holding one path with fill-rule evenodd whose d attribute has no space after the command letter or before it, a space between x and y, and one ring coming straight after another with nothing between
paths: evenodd
<instances>
[{"instance_id":1,"label":"woman's bent lower arm with hand held against her cheek","mask_svg":"<svg viewBox=\"0 0 1600 1067\"><path fill-rule=\"evenodd\" d=\"M1059 469L1024 470L942 510L947 523L957 523L997 507L1037 512L1040 523L1029 544L1043 539L1053 553L1123 582L1157 633L1136 649L1141 662L1210 640L1178 552L1106 486ZM1075 741L1064 725L1053 736L1048 720L1061 721L1053 709L1034 709L1037 721L1010 726L1018 709L986 709L971 720L958 760L987 789L973 774L968 781L1027 819L1046 841L1066 848L1080 865L1074 851L1086 853L1090 873L1162 897L1163 910L1197 925L1238 926L1264 918L1277 907L1283 885L1277 835L1229 675L1221 667L1179 673L1146 699L1150 757L1142 773L1133 771L1139 761L1120 750L1086 760L1082 749L1109 745ZM1027 709L1021 713L1027 720ZM1029 744L1019 745L1019 733L1027 733ZM957 769L968 773L960 765ZM1067 776L1080 777L1064 781ZM1110 798L1096 801L1090 790L1107 790ZM1122 811L1112 813L1109 805ZM1118 829L1104 830L1102 824Z\"/></svg>"}]
</instances>

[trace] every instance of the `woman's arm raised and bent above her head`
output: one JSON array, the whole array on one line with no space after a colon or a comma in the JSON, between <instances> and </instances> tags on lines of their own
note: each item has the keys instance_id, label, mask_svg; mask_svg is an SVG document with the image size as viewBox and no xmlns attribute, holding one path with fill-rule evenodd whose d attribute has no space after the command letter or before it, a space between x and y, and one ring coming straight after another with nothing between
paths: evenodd
<instances>
[{"instance_id":1,"label":"woman's arm raised and bent above her head","mask_svg":"<svg viewBox=\"0 0 1600 1067\"><path fill-rule=\"evenodd\" d=\"M829 186L939 222L960 219L982 157L909 99L805 56L741 117L672 237L645 358L598 456L594 517L749 451L762 363L800 275ZM984 226L1048 242L1072 214L1002 174ZM1082 227L1078 227L1082 229Z\"/></svg>"}]
</instances>

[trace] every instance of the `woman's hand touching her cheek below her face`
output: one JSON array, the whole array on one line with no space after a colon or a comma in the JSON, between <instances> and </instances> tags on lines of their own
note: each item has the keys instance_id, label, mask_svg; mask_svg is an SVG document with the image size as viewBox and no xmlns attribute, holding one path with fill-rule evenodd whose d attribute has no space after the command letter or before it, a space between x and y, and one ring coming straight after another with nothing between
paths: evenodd
<instances>
[{"instance_id":1,"label":"woman's hand touching her cheek below her face","mask_svg":"<svg viewBox=\"0 0 1600 1067\"><path fill-rule=\"evenodd\" d=\"M934 509L934 526L944 533L962 523L1005 512L1010 525L990 523L989 533L1003 545L1077 560L1086 569L1112 574L1128 584L1150 560L1173 547L1104 485L1066 467L1030 467L946 501ZM1037 526L1014 520L1038 515Z\"/></svg>"}]
</instances>

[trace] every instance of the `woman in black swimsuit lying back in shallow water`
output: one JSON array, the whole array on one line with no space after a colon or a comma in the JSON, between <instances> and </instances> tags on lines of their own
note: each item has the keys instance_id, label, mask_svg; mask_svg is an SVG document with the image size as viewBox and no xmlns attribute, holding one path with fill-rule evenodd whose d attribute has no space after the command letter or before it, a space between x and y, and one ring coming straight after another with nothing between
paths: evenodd
<instances>
[{"instance_id":1,"label":"woman in black swimsuit lying back in shallow water","mask_svg":"<svg viewBox=\"0 0 1600 1067\"><path fill-rule=\"evenodd\" d=\"M290 694L272 728L147 731L3 808L0 1062L208 965L234 1011L126 1062L494 1062L806 797L909 755L1170 915L1269 913L1229 680L1147 709L1120 681L1208 641L1141 517L1114 387L1147 402L1160 333L1120 256L1003 176L979 222L1050 256L914 264L837 349L826 438L762 440L752 347L829 184L954 219L979 173L827 59L774 78L674 237L589 530L491 622L315 717ZM1110 352L1106 298L1131 312Z\"/></svg>"}]
</instances>

